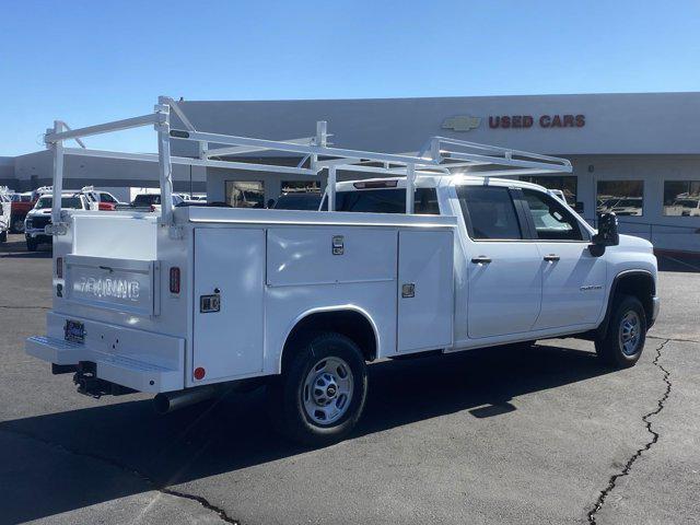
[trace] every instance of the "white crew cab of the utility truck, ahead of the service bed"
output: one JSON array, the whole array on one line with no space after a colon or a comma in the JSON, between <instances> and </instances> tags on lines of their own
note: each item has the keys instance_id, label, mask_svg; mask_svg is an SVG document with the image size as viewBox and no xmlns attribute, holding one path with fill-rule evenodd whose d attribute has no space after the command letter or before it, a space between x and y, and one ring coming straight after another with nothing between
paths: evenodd
<instances>
[{"instance_id":1,"label":"white crew cab of the utility truck, ahead of the service bed","mask_svg":"<svg viewBox=\"0 0 700 525\"><path fill-rule=\"evenodd\" d=\"M343 182L337 185L336 210L402 213L405 199L402 178ZM619 244L600 253L597 232L541 186L419 175L415 212L457 218L451 350L558 335L593 337L609 323L616 290L632 291L648 328L656 318L652 244L619 235Z\"/></svg>"}]
</instances>

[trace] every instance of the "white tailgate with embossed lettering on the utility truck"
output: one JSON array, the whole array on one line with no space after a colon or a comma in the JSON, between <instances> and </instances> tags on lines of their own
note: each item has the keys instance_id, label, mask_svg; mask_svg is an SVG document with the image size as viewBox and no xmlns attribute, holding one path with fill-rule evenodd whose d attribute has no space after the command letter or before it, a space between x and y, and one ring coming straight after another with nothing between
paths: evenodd
<instances>
[{"instance_id":1,"label":"white tailgate with embossed lettering on the utility truck","mask_svg":"<svg viewBox=\"0 0 700 525\"><path fill-rule=\"evenodd\" d=\"M156 260L66 256L63 298L103 310L153 316L160 313Z\"/></svg>"}]
</instances>

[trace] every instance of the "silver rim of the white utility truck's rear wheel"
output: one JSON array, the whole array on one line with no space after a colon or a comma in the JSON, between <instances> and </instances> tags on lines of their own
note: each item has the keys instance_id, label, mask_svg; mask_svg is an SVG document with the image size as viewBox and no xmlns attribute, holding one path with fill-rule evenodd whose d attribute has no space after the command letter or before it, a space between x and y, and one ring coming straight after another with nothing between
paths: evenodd
<instances>
[{"instance_id":1,"label":"silver rim of the white utility truck's rear wheel","mask_svg":"<svg viewBox=\"0 0 700 525\"><path fill-rule=\"evenodd\" d=\"M332 424L342 418L352 401L352 371L340 358L318 360L306 374L302 404L316 424Z\"/></svg>"}]
</instances>

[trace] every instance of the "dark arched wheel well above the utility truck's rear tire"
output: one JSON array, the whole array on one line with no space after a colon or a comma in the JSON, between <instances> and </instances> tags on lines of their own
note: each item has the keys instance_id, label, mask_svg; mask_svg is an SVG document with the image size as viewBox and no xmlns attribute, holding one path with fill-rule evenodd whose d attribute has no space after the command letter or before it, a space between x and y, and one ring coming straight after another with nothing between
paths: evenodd
<instances>
[{"instance_id":1,"label":"dark arched wheel well above the utility truck's rear tire","mask_svg":"<svg viewBox=\"0 0 700 525\"><path fill-rule=\"evenodd\" d=\"M282 370L293 355L288 351L303 343L304 339L317 331L335 331L351 339L359 348L366 361L376 359L376 335L370 320L354 310L317 312L310 314L292 329L282 349Z\"/></svg>"}]
</instances>

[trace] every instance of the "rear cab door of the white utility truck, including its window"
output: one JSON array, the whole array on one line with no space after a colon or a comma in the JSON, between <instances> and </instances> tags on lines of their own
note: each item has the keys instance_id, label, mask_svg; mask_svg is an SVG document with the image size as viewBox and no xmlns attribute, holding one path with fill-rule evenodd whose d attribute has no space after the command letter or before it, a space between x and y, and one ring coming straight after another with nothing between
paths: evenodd
<instances>
[{"instance_id":1,"label":"rear cab door of the white utility truck, including its window","mask_svg":"<svg viewBox=\"0 0 700 525\"><path fill-rule=\"evenodd\" d=\"M541 258L527 241L513 192L506 186L457 186L469 241L467 331L469 338L528 331L541 300Z\"/></svg>"}]
</instances>

